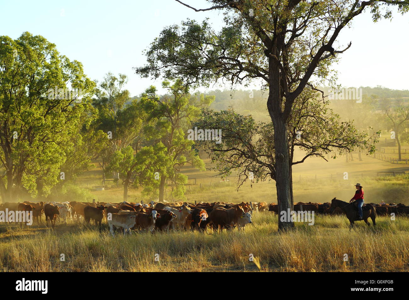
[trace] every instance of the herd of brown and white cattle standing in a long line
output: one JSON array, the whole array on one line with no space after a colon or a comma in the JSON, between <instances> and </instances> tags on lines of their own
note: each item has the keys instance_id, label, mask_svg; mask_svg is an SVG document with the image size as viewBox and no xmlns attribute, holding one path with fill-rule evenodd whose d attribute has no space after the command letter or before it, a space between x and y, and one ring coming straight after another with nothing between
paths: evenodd
<instances>
[{"instance_id":1,"label":"herd of brown and white cattle standing in a long line","mask_svg":"<svg viewBox=\"0 0 409 300\"><path fill-rule=\"evenodd\" d=\"M337 208L330 211L330 202L294 203L294 211L314 211L318 214L344 214ZM372 203L378 215L409 215L409 207L404 204L375 204ZM32 214L33 223L40 225L44 213L46 224L50 220L54 228L57 218L60 222L67 223L67 219L76 221L84 220L90 223L94 220L95 225L101 227L103 220L109 226L110 233L114 235L114 229L122 229L124 234L130 233L130 229L138 231L169 231L200 230L207 231L207 225L213 230L223 229L244 230L245 225L252 222L253 211L273 211L279 213L278 205L266 202L231 204L227 202L213 202L192 204L188 202L151 202L141 204L135 202L6 202L0 204L0 211L25 211ZM21 222L21 227L23 222Z\"/></svg>"}]
</instances>

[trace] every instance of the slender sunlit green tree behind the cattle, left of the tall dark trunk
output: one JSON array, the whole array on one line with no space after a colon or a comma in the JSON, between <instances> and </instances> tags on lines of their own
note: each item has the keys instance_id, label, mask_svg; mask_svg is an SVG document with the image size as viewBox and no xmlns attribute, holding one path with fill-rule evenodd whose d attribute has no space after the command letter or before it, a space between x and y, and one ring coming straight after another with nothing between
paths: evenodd
<instances>
[{"instance_id":1,"label":"slender sunlit green tree behind the cattle, left of the tall dark trunk","mask_svg":"<svg viewBox=\"0 0 409 300\"><path fill-rule=\"evenodd\" d=\"M193 149L195 142L187 138L187 130L199 115L200 108L209 107L214 100L214 96L191 95L189 88L181 80L176 80L174 84L164 81L162 87L169 93L160 97L156 94L155 87L150 87L141 97L149 120L155 121L148 128L147 136L150 136L152 142L160 142L166 147L168 158L168 164L158 170L159 201L164 200L167 179L173 183L172 195L179 198L184 196L187 176L180 173L180 168L185 164L205 169L203 161Z\"/></svg>"}]
</instances>

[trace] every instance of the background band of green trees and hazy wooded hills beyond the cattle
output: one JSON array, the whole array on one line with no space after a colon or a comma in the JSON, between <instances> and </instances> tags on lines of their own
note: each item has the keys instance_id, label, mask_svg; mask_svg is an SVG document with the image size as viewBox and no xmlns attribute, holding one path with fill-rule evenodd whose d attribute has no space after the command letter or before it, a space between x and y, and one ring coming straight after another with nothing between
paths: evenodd
<instances>
[{"instance_id":1,"label":"background band of green trees and hazy wooded hills beyond the cattle","mask_svg":"<svg viewBox=\"0 0 409 300\"><path fill-rule=\"evenodd\" d=\"M157 89L151 86L140 95L132 96L125 89L126 75L108 72L101 74L101 78L100 82L88 78L81 62L62 55L55 44L42 36L28 32L17 40L0 36L2 202L31 198L89 199L89 190L80 189L76 180L95 166L101 169L103 180L112 178L123 185L124 200L130 188L141 188L146 197L163 200L167 187L171 189L168 197L184 199L187 176L180 173L180 169L186 165L205 169L198 156L199 147L187 139L187 130L200 118L202 124L219 124L221 119L213 120L217 112L222 112L219 117L227 121L239 120L237 125L242 126L242 137L254 131L254 136L242 145L243 151L254 137L260 136L258 149L272 151L270 148L274 145L269 139L273 129L266 109L267 91L194 93L181 80L176 80L163 82L162 87L168 91L165 95L158 95ZM58 93L51 95L50 89L57 89ZM73 89L81 89L80 98L72 98L64 92ZM308 104L311 109L325 113L326 110L315 105L321 101L319 97L313 99L311 95L301 99L299 105ZM361 103L355 100L328 103L328 98L322 101L342 119L353 120L358 131L355 133L355 129L348 127L351 137L366 132L369 127L388 135L393 131L400 149L401 142L409 139L408 97L407 90L362 87ZM300 107L299 113L304 109ZM203 111L207 111L207 119L203 119ZM333 121L326 122L325 126L331 132L338 117L328 116ZM261 126L253 120L265 124ZM232 126L239 128L236 124ZM303 138L309 140L301 145L306 149L317 144L321 147L322 141L314 140L318 131L315 135L311 131L314 127L308 128L310 136L304 134ZM294 133L295 130L297 127ZM293 138L297 147L298 138ZM236 144L234 138L230 142ZM349 142L351 146L342 148L350 151L358 144L351 139ZM215 162L219 164L219 171L226 173L236 167L223 162L222 158ZM249 167L255 168L254 162L249 162Z\"/></svg>"}]
</instances>

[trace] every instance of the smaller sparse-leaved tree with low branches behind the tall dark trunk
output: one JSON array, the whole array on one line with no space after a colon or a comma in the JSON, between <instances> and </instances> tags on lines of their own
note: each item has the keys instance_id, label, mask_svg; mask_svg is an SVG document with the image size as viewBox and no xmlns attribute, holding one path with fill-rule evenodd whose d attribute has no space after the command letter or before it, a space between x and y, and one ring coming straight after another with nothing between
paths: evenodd
<instances>
[{"instance_id":1,"label":"smaller sparse-leaved tree with low branches behind the tall dark trunk","mask_svg":"<svg viewBox=\"0 0 409 300\"><path fill-rule=\"evenodd\" d=\"M304 90L294 103L294 110L288 122L290 168L304 162L309 157L326 160L343 155L353 149L373 152L374 138L378 134L358 133L353 121L342 122L340 117L328 108L328 103L316 101L314 91ZM238 173L238 188L246 181L276 178L274 154L274 127L272 122L256 122L252 116L242 116L233 109L225 111L202 110L194 124L200 129L218 128L222 132L222 142L216 144L205 140L196 142L204 149L212 162L216 163L219 175ZM294 160L294 151L300 149L304 156ZM292 189L291 199L293 201Z\"/></svg>"}]
</instances>

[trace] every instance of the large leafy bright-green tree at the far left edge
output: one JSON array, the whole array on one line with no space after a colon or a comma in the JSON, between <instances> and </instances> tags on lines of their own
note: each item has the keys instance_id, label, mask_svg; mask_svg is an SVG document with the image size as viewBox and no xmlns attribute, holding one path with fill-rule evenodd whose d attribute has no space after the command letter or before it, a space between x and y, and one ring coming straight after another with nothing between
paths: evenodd
<instances>
[{"instance_id":1,"label":"large leafy bright-green tree at the far left edge","mask_svg":"<svg viewBox=\"0 0 409 300\"><path fill-rule=\"evenodd\" d=\"M47 196L60 180L94 82L43 36L0 36L0 195ZM81 97L82 96L82 97ZM67 174L69 176L69 174Z\"/></svg>"}]
</instances>

